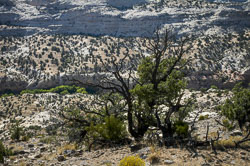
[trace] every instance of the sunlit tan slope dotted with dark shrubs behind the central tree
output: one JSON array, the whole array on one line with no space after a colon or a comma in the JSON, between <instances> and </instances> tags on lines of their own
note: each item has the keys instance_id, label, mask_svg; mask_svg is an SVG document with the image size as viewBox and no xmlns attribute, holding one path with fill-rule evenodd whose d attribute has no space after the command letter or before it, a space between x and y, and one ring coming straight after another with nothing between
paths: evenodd
<instances>
[{"instance_id":1,"label":"sunlit tan slope dotted with dark shrubs behind the central tree","mask_svg":"<svg viewBox=\"0 0 250 166\"><path fill-rule=\"evenodd\" d=\"M111 54L136 58L150 54L138 38L90 37L82 35L35 35L0 38L0 91L50 88L98 80L100 58ZM117 45L119 45L119 51ZM193 41L187 58L189 87L216 85L230 88L237 81L249 83L250 33L206 35ZM98 72L98 74L96 73Z\"/></svg>"}]
</instances>

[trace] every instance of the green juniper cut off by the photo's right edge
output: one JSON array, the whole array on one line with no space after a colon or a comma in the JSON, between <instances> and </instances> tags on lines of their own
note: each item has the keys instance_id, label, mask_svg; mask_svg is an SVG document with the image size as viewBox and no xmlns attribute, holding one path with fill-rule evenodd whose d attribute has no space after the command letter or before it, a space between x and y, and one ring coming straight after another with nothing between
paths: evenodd
<instances>
[{"instance_id":1,"label":"green juniper cut off by the photo's right edge","mask_svg":"<svg viewBox=\"0 0 250 166\"><path fill-rule=\"evenodd\" d=\"M239 127L250 122L250 89L237 84L233 88L233 96L221 106L221 113L231 121L237 121Z\"/></svg>"}]
</instances>

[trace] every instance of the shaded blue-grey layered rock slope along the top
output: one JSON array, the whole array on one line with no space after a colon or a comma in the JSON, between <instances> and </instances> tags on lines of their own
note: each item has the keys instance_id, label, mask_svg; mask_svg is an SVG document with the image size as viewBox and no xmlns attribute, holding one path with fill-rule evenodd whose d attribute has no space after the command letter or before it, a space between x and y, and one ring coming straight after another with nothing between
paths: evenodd
<instances>
[{"instance_id":1,"label":"shaded blue-grey layered rock slope along the top","mask_svg":"<svg viewBox=\"0 0 250 166\"><path fill-rule=\"evenodd\" d=\"M249 0L1 0L0 35L217 34L250 27Z\"/></svg>"}]
</instances>

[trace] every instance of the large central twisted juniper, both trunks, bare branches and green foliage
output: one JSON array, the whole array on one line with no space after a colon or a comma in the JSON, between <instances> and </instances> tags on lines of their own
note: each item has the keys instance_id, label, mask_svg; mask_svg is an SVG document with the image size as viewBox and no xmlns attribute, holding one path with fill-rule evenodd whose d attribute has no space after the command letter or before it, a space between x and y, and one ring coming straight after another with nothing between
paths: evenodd
<instances>
[{"instance_id":1,"label":"large central twisted juniper, both trunks, bare branches and green foliage","mask_svg":"<svg viewBox=\"0 0 250 166\"><path fill-rule=\"evenodd\" d=\"M177 40L169 30L163 34L157 31L155 37L140 42L127 39L121 43L118 39L106 50L105 59L99 57L96 82L74 81L119 94L124 104L121 114L125 111L128 131L136 140L150 126L160 129L167 140L173 137L174 123L184 119L191 103L183 100L187 84L183 71L188 63L183 57L190 49L187 41ZM130 47L139 48L139 54L131 53ZM150 56L143 54L143 47Z\"/></svg>"}]
</instances>

